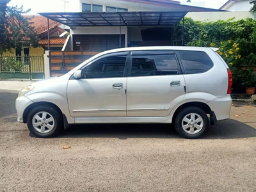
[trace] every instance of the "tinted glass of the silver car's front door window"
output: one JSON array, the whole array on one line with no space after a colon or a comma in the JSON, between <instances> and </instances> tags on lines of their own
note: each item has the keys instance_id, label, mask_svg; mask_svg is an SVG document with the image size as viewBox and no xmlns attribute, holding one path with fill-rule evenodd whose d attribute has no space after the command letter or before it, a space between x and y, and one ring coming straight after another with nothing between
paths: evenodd
<instances>
[{"instance_id":1,"label":"tinted glass of the silver car's front door window","mask_svg":"<svg viewBox=\"0 0 256 192\"><path fill-rule=\"evenodd\" d=\"M109 56L95 61L83 68L82 75L86 79L123 77L126 56Z\"/></svg>"}]
</instances>

